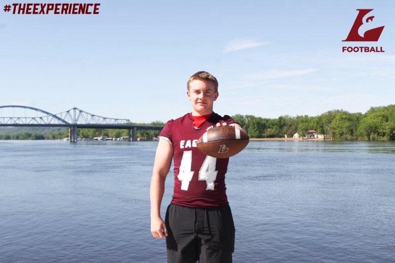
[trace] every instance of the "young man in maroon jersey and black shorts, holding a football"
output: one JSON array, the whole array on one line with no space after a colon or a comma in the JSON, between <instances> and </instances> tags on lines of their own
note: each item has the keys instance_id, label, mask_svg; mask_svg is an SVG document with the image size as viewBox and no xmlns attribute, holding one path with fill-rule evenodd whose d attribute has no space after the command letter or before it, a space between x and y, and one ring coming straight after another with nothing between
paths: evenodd
<instances>
[{"instance_id":1,"label":"young man in maroon jersey and black shorts, holding a football","mask_svg":"<svg viewBox=\"0 0 395 263\"><path fill-rule=\"evenodd\" d=\"M166 237L168 262L232 262L235 227L225 193L229 158L200 152L196 141L208 129L240 125L228 115L213 112L218 81L208 72L187 82L192 112L170 120L159 134L151 179L151 232ZM165 221L160 216L164 181L174 157L174 195Z\"/></svg>"}]
</instances>

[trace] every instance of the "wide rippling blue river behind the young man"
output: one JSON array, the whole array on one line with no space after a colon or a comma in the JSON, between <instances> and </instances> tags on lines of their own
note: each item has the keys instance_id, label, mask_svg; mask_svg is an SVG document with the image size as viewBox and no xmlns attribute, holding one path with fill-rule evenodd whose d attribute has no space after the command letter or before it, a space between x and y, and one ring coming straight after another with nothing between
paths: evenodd
<instances>
[{"instance_id":1,"label":"wide rippling blue river behind the young man","mask_svg":"<svg viewBox=\"0 0 395 263\"><path fill-rule=\"evenodd\" d=\"M165 262L156 144L0 141L0 261ZM394 142L251 141L227 193L234 262L395 262Z\"/></svg>"}]
</instances>

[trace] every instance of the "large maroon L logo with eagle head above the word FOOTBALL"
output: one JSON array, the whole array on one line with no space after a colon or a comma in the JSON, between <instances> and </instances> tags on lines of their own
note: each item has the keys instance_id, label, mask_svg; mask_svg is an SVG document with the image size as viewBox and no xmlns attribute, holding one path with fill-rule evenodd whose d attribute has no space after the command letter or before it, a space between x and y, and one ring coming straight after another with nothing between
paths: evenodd
<instances>
[{"instance_id":1,"label":"large maroon L logo with eagle head above the word FOOTBALL","mask_svg":"<svg viewBox=\"0 0 395 263\"><path fill-rule=\"evenodd\" d=\"M378 41L381 36L381 32L383 32L384 25L366 31L363 34L363 37L361 37L358 34L358 30L359 27L361 27L361 25L364 24L363 17L369 12L371 12L373 9L357 9L357 10L358 10L358 15L355 18L350 33L348 34L347 39L343 41ZM366 18L365 22L369 23L369 21L373 21L374 18L375 18L374 16L370 16Z\"/></svg>"}]
</instances>

